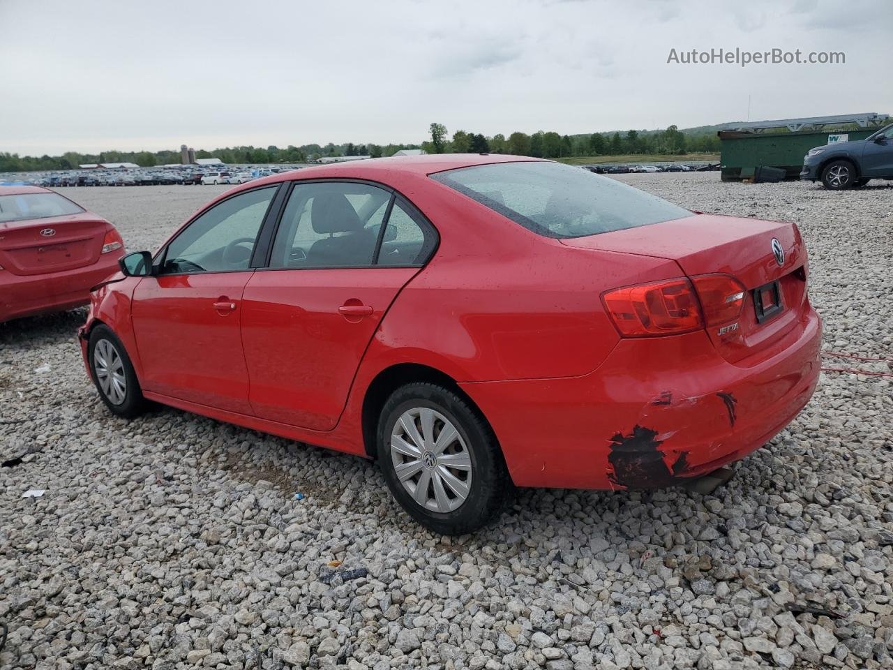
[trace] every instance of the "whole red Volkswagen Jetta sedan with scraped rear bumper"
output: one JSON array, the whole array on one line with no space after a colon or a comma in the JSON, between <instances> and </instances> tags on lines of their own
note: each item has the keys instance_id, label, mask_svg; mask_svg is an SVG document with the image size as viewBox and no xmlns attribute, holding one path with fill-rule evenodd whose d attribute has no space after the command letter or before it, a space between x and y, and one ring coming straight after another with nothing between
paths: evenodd
<instances>
[{"instance_id":1,"label":"whole red Volkswagen Jetta sedan with scraped rear bumper","mask_svg":"<svg viewBox=\"0 0 893 670\"><path fill-rule=\"evenodd\" d=\"M819 375L795 224L518 156L252 181L121 267L80 330L114 414L154 400L377 458L436 532L478 528L515 486L712 472Z\"/></svg>"}]
</instances>

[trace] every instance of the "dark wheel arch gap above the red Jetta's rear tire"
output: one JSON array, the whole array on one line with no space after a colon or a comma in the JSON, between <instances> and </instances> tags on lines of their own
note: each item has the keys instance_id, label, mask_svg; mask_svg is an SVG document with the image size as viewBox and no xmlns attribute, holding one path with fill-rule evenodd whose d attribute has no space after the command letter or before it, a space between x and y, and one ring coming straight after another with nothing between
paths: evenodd
<instances>
[{"instance_id":1,"label":"dark wheel arch gap above the red Jetta's rear tire","mask_svg":"<svg viewBox=\"0 0 893 670\"><path fill-rule=\"evenodd\" d=\"M430 365L419 363L398 363L393 364L376 374L366 388L363 395L363 409L361 413L362 430L363 430L363 448L367 456L375 458L376 452L376 431L378 429L378 418L381 414L381 408L388 402L391 394L401 386L411 384L413 382L427 382L438 384L445 389L454 392L460 398L468 403L472 410L480 416L481 420L486 423L492 431L493 427L487 420L487 416L480 410L480 406L459 386L450 375L438 370ZM495 434L495 431L494 431Z\"/></svg>"}]
</instances>

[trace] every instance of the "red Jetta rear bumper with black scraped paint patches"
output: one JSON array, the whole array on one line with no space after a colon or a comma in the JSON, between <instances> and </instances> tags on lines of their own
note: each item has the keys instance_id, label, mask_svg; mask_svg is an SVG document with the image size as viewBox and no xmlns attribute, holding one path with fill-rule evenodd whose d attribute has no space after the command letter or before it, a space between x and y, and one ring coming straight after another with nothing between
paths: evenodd
<instances>
[{"instance_id":1,"label":"red Jetta rear bumper with black scraped paint patches","mask_svg":"<svg viewBox=\"0 0 893 670\"><path fill-rule=\"evenodd\" d=\"M812 397L821 320L749 367L730 364L704 331L622 339L597 371L562 379L461 384L487 416L518 486L671 486L739 460Z\"/></svg>"}]
</instances>

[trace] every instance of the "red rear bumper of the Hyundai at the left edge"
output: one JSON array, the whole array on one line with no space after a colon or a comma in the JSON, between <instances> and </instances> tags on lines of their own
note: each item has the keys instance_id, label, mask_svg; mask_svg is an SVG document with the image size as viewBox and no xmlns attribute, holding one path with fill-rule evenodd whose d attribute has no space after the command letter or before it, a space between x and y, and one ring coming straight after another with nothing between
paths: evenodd
<instances>
[{"instance_id":1,"label":"red rear bumper of the Hyundai at the left edge","mask_svg":"<svg viewBox=\"0 0 893 670\"><path fill-rule=\"evenodd\" d=\"M91 265L21 276L0 271L0 322L23 316L63 312L90 302L90 289L118 270L124 250L103 254Z\"/></svg>"}]
</instances>

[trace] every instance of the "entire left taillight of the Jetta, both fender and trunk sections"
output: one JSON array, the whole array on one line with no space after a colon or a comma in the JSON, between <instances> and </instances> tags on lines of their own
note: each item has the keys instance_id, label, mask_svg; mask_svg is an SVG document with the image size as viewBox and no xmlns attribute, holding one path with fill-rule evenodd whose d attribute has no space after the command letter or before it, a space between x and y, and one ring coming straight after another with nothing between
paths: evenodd
<instances>
[{"instance_id":1,"label":"entire left taillight of the Jetta, both fender and trunk sections","mask_svg":"<svg viewBox=\"0 0 893 670\"><path fill-rule=\"evenodd\" d=\"M728 274L653 281L607 291L602 300L621 335L647 338L698 331L730 322L744 306L745 289Z\"/></svg>"}]
</instances>

